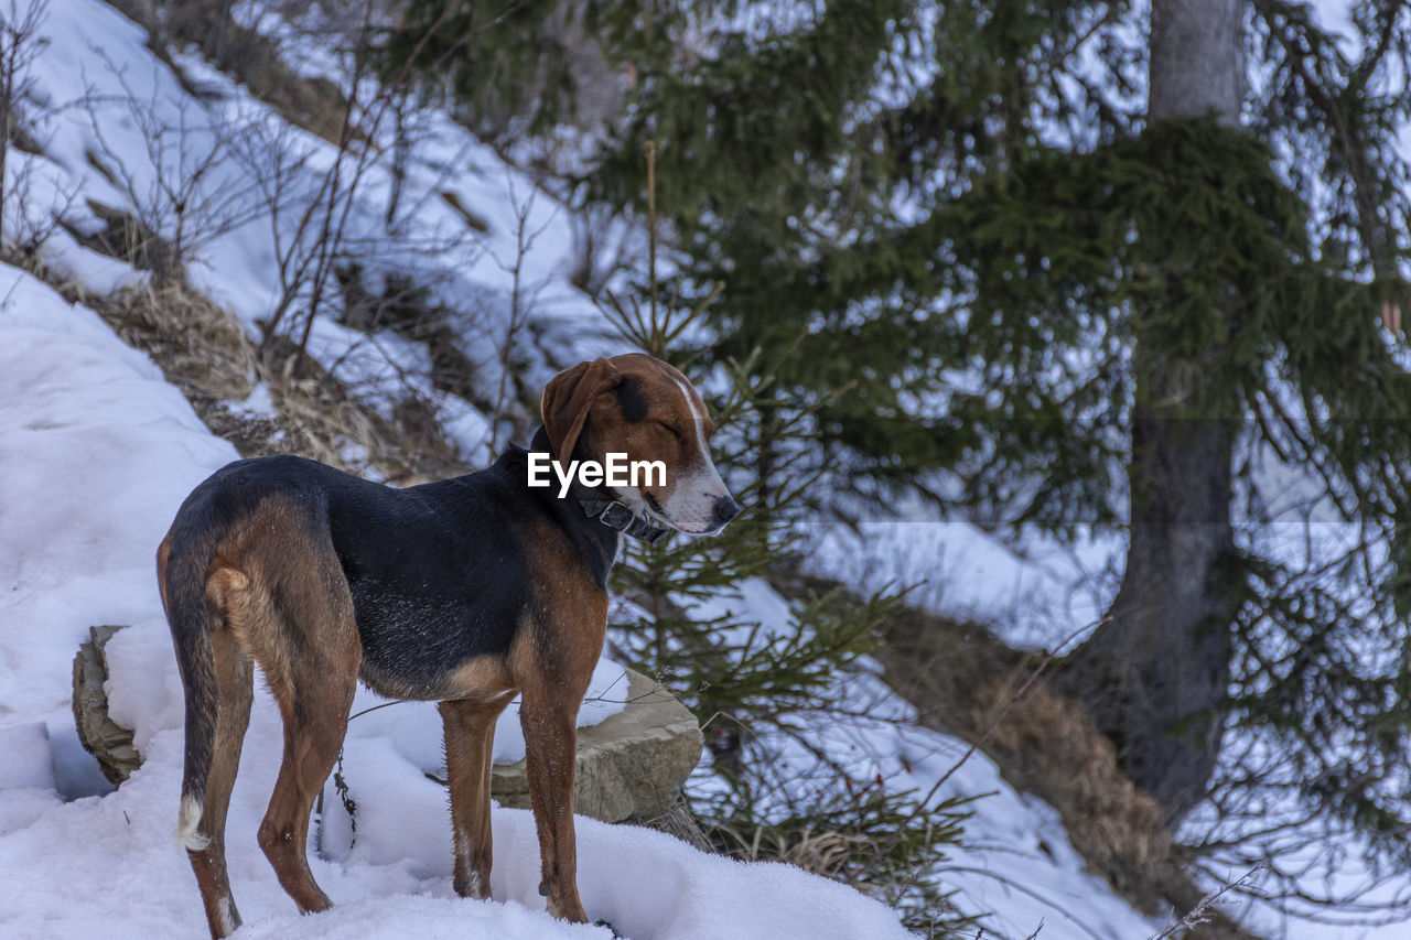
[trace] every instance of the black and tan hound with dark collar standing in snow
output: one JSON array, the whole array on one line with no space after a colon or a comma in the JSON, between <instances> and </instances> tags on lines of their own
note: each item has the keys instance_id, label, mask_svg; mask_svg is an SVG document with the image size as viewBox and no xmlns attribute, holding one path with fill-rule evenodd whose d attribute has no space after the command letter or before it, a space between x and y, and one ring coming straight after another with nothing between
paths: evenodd
<instances>
[{"instance_id":1,"label":"black and tan hound with dark collar standing in snow","mask_svg":"<svg viewBox=\"0 0 1411 940\"><path fill-rule=\"evenodd\" d=\"M213 937L240 926L226 813L250 720L253 663L284 718L284 764L260 847L303 913L309 810L343 745L358 679L439 701L454 888L490 898L495 720L522 694L528 776L549 912L586 922L573 827L577 711L607 629L622 535L710 535L739 507L710 456L714 425L682 373L650 356L598 358L543 391L531 450L395 490L293 456L238 460L196 487L157 552L186 700L176 836ZM529 486L533 454L660 462L638 486ZM542 460L542 459L540 459Z\"/></svg>"}]
</instances>

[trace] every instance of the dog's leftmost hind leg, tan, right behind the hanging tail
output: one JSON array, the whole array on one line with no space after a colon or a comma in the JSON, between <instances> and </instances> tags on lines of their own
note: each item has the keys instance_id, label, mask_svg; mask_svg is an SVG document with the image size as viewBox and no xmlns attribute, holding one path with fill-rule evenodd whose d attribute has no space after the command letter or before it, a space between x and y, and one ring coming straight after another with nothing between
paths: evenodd
<instances>
[{"instance_id":1,"label":"dog's leftmost hind leg, tan, right behind the hanging tail","mask_svg":"<svg viewBox=\"0 0 1411 940\"><path fill-rule=\"evenodd\" d=\"M212 936L229 937L240 926L240 912L230 895L230 876L226 871L226 813L230 809L236 771L240 768L240 747L250 724L254 673L250 656L227 629L214 629L210 639L220 699L200 814L200 833L207 843L202 851L188 850L186 854L196 872Z\"/></svg>"}]
</instances>

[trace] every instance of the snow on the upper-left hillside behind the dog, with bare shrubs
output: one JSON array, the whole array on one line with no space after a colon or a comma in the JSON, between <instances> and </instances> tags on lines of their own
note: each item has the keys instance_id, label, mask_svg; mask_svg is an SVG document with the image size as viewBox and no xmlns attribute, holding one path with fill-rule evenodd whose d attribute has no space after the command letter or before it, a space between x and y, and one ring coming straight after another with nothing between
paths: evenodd
<instances>
[{"instance_id":1,"label":"snow on the upper-left hillside behind the dog, with bare shrubs","mask_svg":"<svg viewBox=\"0 0 1411 940\"><path fill-rule=\"evenodd\" d=\"M302 316L312 285L286 284L281 263L296 267L312 257L323 220L319 212L301 224L312 202L340 220L339 264L360 265L370 291L388 275L409 275L459 311L463 351L488 398L499 392L507 342L516 366L536 370L535 381L569 356L621 351L591 301L569 284L580 248L567 210L443 113L411 113L412 150L389 219L392 121L375 102L356 114L373 143L340 152L195 55L174 56L178 76L152 58L141 28L103 3L51 3L40 41L20 114L44 152L11 151L4 222L10 239L42 241L45 263L62 277L99 294L140 279L55 227L61 217L75 231L100 230L96 203L179 241L190 282L251 329L285 291L291 316ZM298 42L286 52L296 65L306 56L320 68L339 58ZM202 97L188 95L183 82ZM340 185L330 188L334 175ZM320 309L341 305L330 278ZM522 329L531 312L532 335ZM425 349L395 336L368 337L319 318L310 350L373 399L394 387L432 397ZM483 459L490 428L459 402L447 412L463 456Z\"/></svg>"}]
</instances>

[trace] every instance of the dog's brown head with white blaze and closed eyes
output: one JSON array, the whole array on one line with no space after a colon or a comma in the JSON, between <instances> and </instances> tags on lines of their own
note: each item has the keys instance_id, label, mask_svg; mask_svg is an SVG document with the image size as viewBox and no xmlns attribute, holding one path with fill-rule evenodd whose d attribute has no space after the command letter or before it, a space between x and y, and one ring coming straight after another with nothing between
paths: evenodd
<instances>
[{"instance_id":1,"label":"dog's brown head with white blaze and closed eyes","mask_svg":"<svg viewBox=\"0 0 1411 940\"><path fill-rule=\"evenodd\" d=\"M662 360L629 353L579 363L553 377L542 408L564 466L576 457L602 463L610 453L665 466L665 474L639 474L638 486L608 487L634 512L691 535L714 535L739 515L710 456L715 425L706 402Z\"/></svg>"}]
</instances>

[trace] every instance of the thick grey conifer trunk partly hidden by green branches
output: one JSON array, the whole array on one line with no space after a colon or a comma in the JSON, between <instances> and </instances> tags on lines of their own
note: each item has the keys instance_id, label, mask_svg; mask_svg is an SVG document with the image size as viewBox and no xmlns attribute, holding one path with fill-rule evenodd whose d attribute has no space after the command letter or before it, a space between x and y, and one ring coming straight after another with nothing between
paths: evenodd
<instances>
[{"instance_id":1,"label":"thick grey conifer trunk partly hidden by green branches","mask_svg":"<svg viewBox=\"0 0 1411 940\"><path fill-rule=\"evenodd\" d=\"M1237 0L1153 0L1149 121L1211 113L1237 126L1243 93ZM1180 289L1173 287L1173 289ZM1130 546L1108 620L1060 685L1115 740L1123 769L1174 826L1206 792L1219 757L1235 600L1229 415L1192 415L1191 381L1219 350L1175 361L1137 329Z\"/></svg>"}]
</instances>

